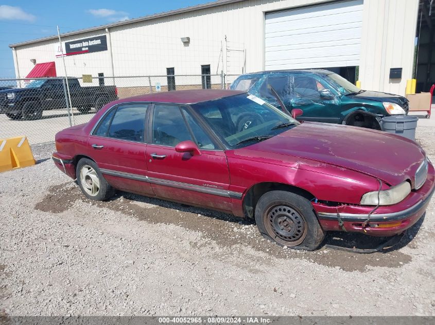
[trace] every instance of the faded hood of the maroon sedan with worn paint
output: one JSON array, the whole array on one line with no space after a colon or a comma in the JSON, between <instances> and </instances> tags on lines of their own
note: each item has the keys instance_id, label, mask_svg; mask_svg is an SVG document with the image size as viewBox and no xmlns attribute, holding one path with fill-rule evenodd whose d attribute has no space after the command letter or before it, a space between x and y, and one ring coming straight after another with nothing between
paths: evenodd
<instances>
[{"instance_id":1,"label":"faded hood of the maroon sedan with worn paint","mask_svg":"<svg viewBox=\"0 0 435 325\"><path fill-rule=\"evenodd\" d=\"M359 171L394 186L414 181L425 159L415 142L387 132L353 126L305 122L247 147Z\"/></svg>"}]
</instances>

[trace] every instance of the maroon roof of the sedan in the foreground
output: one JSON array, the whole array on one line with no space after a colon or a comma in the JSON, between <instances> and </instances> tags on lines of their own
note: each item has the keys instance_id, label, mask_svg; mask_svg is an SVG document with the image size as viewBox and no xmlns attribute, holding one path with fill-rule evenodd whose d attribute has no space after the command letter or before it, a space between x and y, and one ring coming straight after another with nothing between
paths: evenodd
<instances>
[{"instance_id":1,"label":"maroon roof of the sedan in the foreground","mask_svg":"<svg viewBox=\"0 0 435 325\"><path fill-rule=\"evenodd\" d=\"M155 102L155 103L176 103L176 104L194 104L206 101L212 101L224 97L230 97L245 93L240 90L224 89L195 89L195 90L175 90L153 92L145 95L125 98L118 103L123 102Z\"/></svg>"}]
</instances>

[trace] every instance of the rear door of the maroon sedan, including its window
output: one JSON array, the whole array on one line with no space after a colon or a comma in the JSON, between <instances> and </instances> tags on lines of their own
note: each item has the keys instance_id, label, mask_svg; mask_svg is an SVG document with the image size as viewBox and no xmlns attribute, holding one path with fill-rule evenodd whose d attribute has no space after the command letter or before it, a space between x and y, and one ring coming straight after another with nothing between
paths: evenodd
<instances>
[{"instance_id":1,"label":"rear door of the maroon sedan, including its window","mask_svg":"<svg viewBox=\"0 0 435 325\"><path fill-rule=\"evenodd\" d=\"M148 107L147 103L131 103L111 108L91 132L87 148L109 184L153 195L145 160Z\"/></svg>"}]
</instances>

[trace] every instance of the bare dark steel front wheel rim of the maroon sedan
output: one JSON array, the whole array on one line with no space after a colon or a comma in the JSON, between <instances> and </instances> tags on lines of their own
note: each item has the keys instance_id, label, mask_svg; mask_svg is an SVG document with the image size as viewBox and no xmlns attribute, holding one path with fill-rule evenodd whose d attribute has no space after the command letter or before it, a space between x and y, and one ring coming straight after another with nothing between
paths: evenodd
<instances>
[{"instance_id":1,"label":"bare dark steel front wheel rim of the maroon sedan","mask_svg":"<svg viewBox=\"0 0 435 325\"><path fill-rule=\"evenodd\" d=\"M286 246L301 244L307 235L304 217L287 203L277 203L269 207L264 221L270 237Z\"/></svg>"}]
</instances>

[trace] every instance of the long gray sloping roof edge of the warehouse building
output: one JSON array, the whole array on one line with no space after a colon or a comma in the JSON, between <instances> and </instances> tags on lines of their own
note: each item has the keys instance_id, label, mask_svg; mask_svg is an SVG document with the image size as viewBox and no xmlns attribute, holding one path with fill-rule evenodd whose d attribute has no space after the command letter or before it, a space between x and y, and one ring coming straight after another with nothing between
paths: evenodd
<instances>
[{"instance_id":1,"label":"long gray sloping roof edge of the warehouse building","mask_svg":"<svg viewBox=\"0 0 435 325\"><path fill-rule=\"evenodd\" d=\"M116 23L112 23L112 24L100 25L100 26L75 30L75 31L67 32L67 33L62 33L62 34L60 34L60 36L65 37L65 36L72 36L72 35L77 35L77 34L88 33L88 32L92 32L92 31L105 30L106 28L130 25L130 24L134 24L134 23L150 21L150 20L157 19L157 18L173 16L173 15L197 11L197 10L201 10L201 9L208 9L208 8L214 8L214 7L224 6L224 5L230 5L233 3L244 2L244 1L247 1L247 0L218 0L218 1L214 1L214 2L207 2L207 3L202 4L202 5L196 5L196 6L192 6L192 7L175 9L175 10L165 11L165 12L161 12L161 13L155 13L155 14L148 15L148 16L129 19L127 21L121 21L121 22L116 22ZM56 39L58 39L58 35L46 36L46 37L41 37L40 39L36 39L36 40L25 41L25 42L20 42L20 43L15 43L15 44L9 44L9 48L33 44L33 43L39 43L39 42L43 42L43 41L56 40Z\"/></svg>"}]
</instances>

